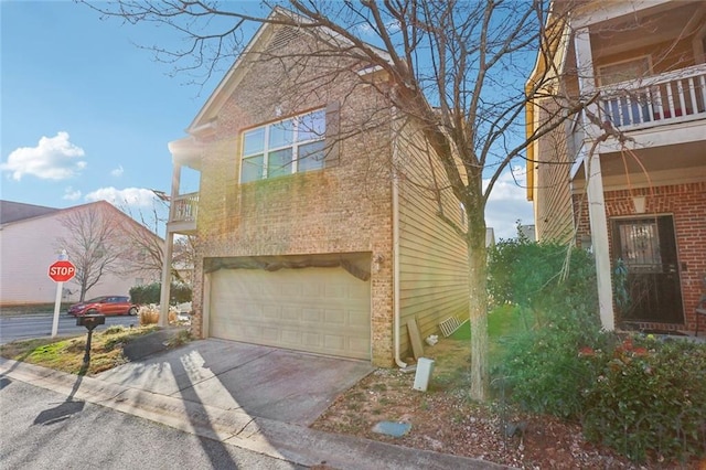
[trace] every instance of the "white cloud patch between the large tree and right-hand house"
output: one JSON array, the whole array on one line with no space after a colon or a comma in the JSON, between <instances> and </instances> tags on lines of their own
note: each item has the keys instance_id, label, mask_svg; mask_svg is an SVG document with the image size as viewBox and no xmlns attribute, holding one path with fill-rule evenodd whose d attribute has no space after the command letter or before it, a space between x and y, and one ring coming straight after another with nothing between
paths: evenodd
<instances>
[{"instance_id":1,"label":"white cloud patch between the large tree and right-hand house","mask_svg":"<svg viewBox=\"0 0 706 470\"><path fill-rule=\"evenodd\" d=\"M483 181L488 186L488 180ZM500 175L485 206L485 223L495 231L495 239L517 236L517 221L523 225L534 223L532 203L527 202L526 173L514 167Z\"/></svg>"}]
</instances>

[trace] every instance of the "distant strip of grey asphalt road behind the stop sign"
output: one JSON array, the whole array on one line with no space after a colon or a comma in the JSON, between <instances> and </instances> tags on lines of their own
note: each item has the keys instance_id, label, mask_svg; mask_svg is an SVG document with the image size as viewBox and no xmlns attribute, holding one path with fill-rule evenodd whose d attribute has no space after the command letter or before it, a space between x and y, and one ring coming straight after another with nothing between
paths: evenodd
<instances>
[{"instance_id":1,"label":"distant strip of grey asphalt road behind the stop sign","mask_svg":"<svg viewBox=\"0 0 706 470\"><path fill-rule=\"evenodd\" d=\"M52 335L52 322L54 313L0 317L0 344L14 340L28 340L31 338L50 338ZM96 328L96 332L114 325L138 325L138 317L116 316L106 317L106 324ZM58 317L58 335L75 335L86 333L85 327L76 327L76 319L61 312Z\"/></svg>"}]
</instances>

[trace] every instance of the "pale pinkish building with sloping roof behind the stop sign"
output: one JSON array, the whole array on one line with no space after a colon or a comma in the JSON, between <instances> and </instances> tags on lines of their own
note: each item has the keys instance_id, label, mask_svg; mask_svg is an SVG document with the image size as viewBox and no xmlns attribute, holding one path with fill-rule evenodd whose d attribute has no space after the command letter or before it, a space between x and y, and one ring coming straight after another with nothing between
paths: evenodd
<instances>
[{"instance_id":1,"label":"pale pinkish building with sloping roof behind the stop sign","mask_svg":"<svg viewBox=\"0 0 706 470\"><path fill-rule=\"evenodd\" d=\"M49 277L49 266L58 259L60 239L71 238L69 229L62 221L69 214L96 211L107 214L117 227L138 225L132 218L107 202L99 201L68 209L43 207L11 201L0 201L0 305L52 303L56 298L56 284ZM140 229L140 228L137 228ZM163 242L156 238L157 246ZM67 253L69 260L77 254ZM139 256L138 253L136 253ZM125 255L129 257L130 254ZM128 260L126 259L126 263ZM127 296L131 287L159 280L159 270L139 273L106 273L90 288L86 298L120 295ZM64 282L62 301L78 301L81 288L75 279Z\"/></svg>"}]
</instances>

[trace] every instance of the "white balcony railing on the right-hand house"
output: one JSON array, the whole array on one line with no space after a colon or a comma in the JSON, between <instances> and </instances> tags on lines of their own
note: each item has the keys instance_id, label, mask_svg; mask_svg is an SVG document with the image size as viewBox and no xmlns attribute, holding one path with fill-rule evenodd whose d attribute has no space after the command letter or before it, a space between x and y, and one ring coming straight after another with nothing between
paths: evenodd
<instances>
[{"instance_id":1,"label":"white balcony railing on the right-hand house","mask_svg":"<svg viewBox=\"0 0 706 470\"><path fill-rule=\"evenodd\" d=\"M706 118L706 64L601 88L602 121L632 130Z\"/></svg>"}]
</instances>

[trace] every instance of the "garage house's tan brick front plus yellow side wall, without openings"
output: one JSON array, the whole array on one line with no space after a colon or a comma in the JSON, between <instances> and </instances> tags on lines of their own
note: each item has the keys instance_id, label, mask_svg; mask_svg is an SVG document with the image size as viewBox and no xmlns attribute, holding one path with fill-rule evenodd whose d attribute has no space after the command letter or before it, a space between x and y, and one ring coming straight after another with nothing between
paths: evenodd
<instances>
[{"instance_id":1,"label":"garage house's tan brick front plus yellow side wall, without openings","mask_svg":"<svg viewBox=\"0 0 706 470\"><path fill-rule=\"evenodd\" d=\"M439 332L442 319L468 311L466 245L437 216L434 197L418 194L432 159L419 150L427 146L414 126L393 130L385 75L321 54L328 47L306 32L267 26L196 117L192 138L183 139L189 163L201 172L192 331L212 333L210 270L220 263L354 255L370 260L372 362L393 366L395 324L406 357L407 321L416 319L426 337ZM327 116L323 169L240 183L244 132L319 109ZM402 182L393 178L395 159ZM445 196L442 205L460 223L458 201Z\"/></svg>"}]
</instances>

